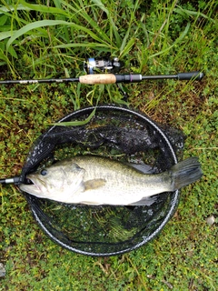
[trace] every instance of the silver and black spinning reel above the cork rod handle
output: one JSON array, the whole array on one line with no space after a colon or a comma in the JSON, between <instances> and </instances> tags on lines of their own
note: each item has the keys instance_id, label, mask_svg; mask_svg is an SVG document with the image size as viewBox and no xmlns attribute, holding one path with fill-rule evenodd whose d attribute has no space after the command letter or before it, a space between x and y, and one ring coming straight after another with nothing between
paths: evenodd
<instances>
[{"instance_id":1,"label":"silver and black spinning reel above the cork rod handle","mask_svg":"<svg viewBox=\"0 0 218 291\"><path fill-rule=\"evenodd\" d=\"M90 57L84 61L84 71L88 75L95 73L119 73L123 67L124 62L120 61L118 57L103 57L102 59Z\"/></svg>"}]
</instances>

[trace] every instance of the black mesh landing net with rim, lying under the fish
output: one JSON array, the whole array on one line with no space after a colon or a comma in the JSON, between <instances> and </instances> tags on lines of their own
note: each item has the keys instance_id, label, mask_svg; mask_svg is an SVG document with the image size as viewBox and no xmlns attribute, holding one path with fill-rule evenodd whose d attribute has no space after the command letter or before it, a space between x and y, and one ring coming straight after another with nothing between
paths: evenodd
<instances>
[{"instance_id":1,"label":"black mesh landing net with rim, lying under the fish","mask_svg":"<svg viewBox=\"0 0 218 291\"><path fill-rule=\"evenodd\" d=\"M94 110L87 107L59 122L83 121ZM183 133L157 125L146 115L125 107L101 105L85 125L54 125L32 147L22 179L41 166L75 155L110 156L145 165L160 173L183 155ZM83 206L63 204L25 193L36 221L65 248L90 256L114 256L149 242L173 216L179 191L153 196L145 206Z\"/></svg>"}]
</instances>

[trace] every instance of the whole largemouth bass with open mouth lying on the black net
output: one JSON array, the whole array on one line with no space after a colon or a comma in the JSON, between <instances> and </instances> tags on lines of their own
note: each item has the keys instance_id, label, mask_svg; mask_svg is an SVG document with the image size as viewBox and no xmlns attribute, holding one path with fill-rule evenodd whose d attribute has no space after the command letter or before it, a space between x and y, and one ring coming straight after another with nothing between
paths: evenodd
<instances>
[{"instance_id":1,"label":"whole largemouth bass with open mouth lying on the black net","mask_svg":"<svg viewBox=\"0 0 218 291\"><path fill-rule=\"evenodd\" d=\"M158 174L103 156L74 156L27 175L19 188L33 196L66 204L144 206L146 199L173 192L203 176L197 157Z\"/></svg>"}]
</instances>

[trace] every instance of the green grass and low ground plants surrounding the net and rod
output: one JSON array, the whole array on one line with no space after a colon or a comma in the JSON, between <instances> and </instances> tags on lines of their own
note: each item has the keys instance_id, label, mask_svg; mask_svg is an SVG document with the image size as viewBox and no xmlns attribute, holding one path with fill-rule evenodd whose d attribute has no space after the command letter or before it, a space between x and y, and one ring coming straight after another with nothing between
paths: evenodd
<instances>
[{"instance_id":1,"label":"green grass and low ground plants surrounding the net and rod","mask_svg":"<svg viewBox=\"0 0 218 291\"><path fill-rule=\"evenodd\" d=\"M89 56L110 54L124 72L201 70L202 82L124 85L129 105L183 129L184 157L203 178L182 191L176 214L147 246L96 258L62 249L36 225L15 186L0 186L0 290L216 290L216 1L2 1L1 79L75 76ZM32 20L33 19L33 20ZM136 62L135 62L136 61ZM30 146L60 117L85 105L124 103L115 85L1 85L0 177L19 175ZM215 224L206 223L208 216Z\"/></svg>"}]
</instances>

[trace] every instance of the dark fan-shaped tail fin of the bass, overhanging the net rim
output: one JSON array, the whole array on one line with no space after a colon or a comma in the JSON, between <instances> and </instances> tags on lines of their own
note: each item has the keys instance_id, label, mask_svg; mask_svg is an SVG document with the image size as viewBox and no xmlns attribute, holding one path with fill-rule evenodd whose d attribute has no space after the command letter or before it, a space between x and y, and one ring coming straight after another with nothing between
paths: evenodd
<instances>
[{"instance_id":1,"label":"dark fan-shaped tail fin of the bass, overhanging the net rim","mask_svg":"<svg viewBox=\"0 0 218 291\"><path fill-rule=\"evenodd\" d=\"M189 157L171 168L173 191L197 181L203 176L197 157Z\"/></svg>"}]
</instances>

